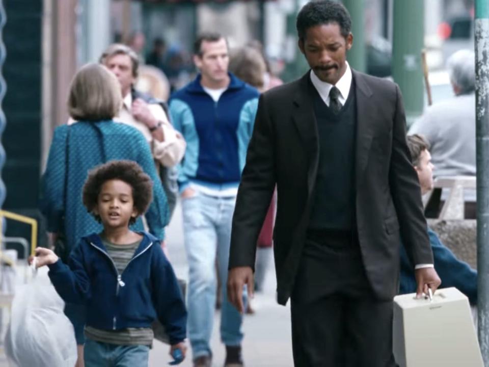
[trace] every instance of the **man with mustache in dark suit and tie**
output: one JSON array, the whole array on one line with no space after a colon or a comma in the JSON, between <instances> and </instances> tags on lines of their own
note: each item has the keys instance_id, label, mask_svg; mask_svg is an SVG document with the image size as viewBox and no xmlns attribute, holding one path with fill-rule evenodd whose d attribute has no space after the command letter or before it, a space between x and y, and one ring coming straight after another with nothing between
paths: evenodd
<instances>
[{"instance_id":1,"label":"man with mustache in dark suit and tie","mask_svg":"<svg viewBox=\"0 0 489 367\"><path fill-rule=\"evenodd\" d=\"M301 367L395 365L399 235L416 265L418 294L440 284L399 88L350 69L350 28L346 9L330 0L297 15L298 45L312 70L261 96L233 217L228 295L242 311L277 184L277 298L291 298Z\"/></svg>"}]
</instances>

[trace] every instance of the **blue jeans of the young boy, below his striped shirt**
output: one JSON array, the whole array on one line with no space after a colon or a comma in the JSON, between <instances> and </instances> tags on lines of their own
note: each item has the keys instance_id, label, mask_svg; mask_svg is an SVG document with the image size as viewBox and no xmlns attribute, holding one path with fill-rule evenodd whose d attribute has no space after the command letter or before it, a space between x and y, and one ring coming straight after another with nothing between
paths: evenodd
<instances>
[{"instance_id":1,"label":"blue jeans of the young boy, below his striped shirt","mask_svg":"<svg viewBox=\"0 0 489 367\"><path fill-rule=\"evenodd\" d=\"M121 346L87 339L83 354L85 367L147 367L149 346Z\"/></svg>"}]
</instances>

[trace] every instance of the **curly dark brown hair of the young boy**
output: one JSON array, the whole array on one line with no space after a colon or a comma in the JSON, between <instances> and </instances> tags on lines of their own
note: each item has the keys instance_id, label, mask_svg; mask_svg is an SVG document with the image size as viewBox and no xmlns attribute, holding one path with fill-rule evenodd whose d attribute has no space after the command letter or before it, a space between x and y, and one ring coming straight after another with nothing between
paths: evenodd
<instances>
[{"instance_id":1,"label":"curly dark brown hair of the young boy","mask_svg":"<svg viewBox=\"0 0 489 367\"><path fill-rule=\"evenodd\" d=\"M132 200L138 215L146 213L153 200L153 181L139 164L126 160L104 163L89 171L83 186L83 204L98 222L100 216L94 214L93 209L98 205L100 189L106 181L115 179L126 182L132 188ZM136 218L131 218L129 224L135 221Z\"/></svg>"}]
</instances>

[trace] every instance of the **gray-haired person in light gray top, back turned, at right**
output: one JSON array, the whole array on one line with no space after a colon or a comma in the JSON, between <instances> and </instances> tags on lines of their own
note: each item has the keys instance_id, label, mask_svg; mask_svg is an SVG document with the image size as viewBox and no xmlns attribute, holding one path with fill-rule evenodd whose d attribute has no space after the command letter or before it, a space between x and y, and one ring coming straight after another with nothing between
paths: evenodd
<instances>
[{"instance_id":1,"label":"gray-haired person in light gray top, back turned, at right","mask_svg":"<svg viewBox=\"0 0 489 367\"><path fill-rule=\"evenodd\" d=\"M429 142L434 176L475 175L475 58L459 50L447 61L455 96L426 109L409 135Z\"/></svg>"}]
</instances>

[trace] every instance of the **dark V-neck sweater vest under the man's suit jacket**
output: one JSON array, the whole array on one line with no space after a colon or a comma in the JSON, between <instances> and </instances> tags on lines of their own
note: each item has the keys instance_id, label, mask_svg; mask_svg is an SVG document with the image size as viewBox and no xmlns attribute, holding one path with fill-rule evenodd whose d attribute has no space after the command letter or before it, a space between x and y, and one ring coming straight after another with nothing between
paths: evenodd
<instances>
[{"instance_id":1,"label":"dark V-neck sweater vest under the man's suit jacket","mask_svg":"<svg viewBox=\"0 0 489 367\"><path fill-rule=\"evenodd\" d=\"M355 226L355 142L357 103L355 82L335 115L310 84L319 135L319 165L309 228L352 230Z\"/></svg>"}]
</instances>

